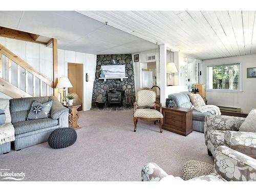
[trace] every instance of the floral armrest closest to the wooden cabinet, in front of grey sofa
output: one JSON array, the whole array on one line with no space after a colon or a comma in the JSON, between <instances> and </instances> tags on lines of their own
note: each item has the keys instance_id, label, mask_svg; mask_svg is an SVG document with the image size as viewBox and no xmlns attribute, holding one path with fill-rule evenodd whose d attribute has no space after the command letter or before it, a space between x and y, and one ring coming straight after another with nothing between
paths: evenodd
<instances>
[{"instance_id":1,"label":"floral armrest closest to the wooden cabinet, in front of grey sofa","mask_svg":"<svg viewBox=\"0 0 256 192\"><path fill-rule=\"evenodd\" d=\"M205 117L204 130L239 131L239 127L244 120L245 118L243 117L207 115Z\"/></svg>"}]
</instances>

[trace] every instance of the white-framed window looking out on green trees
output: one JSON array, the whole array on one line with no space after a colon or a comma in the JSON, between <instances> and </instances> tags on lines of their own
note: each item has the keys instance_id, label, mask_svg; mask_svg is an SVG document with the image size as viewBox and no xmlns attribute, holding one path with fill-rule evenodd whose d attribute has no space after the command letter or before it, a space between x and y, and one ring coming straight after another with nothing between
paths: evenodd
<instances>
[{"instance_id":1,"label":"white-framed window looking out on green trees","mask_svg":"<svg viewBox=\"0 0 256 192\"><path fill-rule=\"evenodd\" d=\"M241 63L207 67L209 90L242 91Z\"/></svg>"}]
</instances>

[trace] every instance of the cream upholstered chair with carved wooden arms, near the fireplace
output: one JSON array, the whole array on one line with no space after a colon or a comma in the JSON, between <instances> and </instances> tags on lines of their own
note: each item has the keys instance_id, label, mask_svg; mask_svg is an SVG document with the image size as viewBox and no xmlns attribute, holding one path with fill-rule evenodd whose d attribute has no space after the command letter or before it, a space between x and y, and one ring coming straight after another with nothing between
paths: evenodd
<instances>
[{"instance_id":1,"label":"cream upholstered chair with carved wooden arms, near the fireplace","mask_svg":"<svg viewBox=\"0 0 256 192\"><path fill-rule=\"evenodd\" d=\"M157 107L159 111L157 111ZM151 109L154 108L154 109ZM156 92L152 89L141 88L136 91L136 101L133 108L134 132L137 129L138 119L146 121L160 120L160 133L162 133L163 115L162 105L156 102Z\"/></svg>"}]
</instances>

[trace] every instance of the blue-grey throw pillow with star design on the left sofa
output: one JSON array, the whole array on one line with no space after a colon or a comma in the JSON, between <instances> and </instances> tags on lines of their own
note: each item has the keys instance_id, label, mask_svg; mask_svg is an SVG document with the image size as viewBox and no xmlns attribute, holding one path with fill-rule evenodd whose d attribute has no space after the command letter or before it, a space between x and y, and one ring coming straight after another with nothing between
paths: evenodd
<instances>
[{"instance_id":1,"label":"blue-grey throw pillow with star design on the left sofa","mask_svg":"<svg viewBox=\"0 0 256 192\"><path fill-rule=\"evenodd\" d=\"M32 103L28 120L32 119L45 119L50 117L50 111L52 107L53 99L45 102L44 104L41 104L38 101L34 101Z\"/></svg>"}]
</instances>

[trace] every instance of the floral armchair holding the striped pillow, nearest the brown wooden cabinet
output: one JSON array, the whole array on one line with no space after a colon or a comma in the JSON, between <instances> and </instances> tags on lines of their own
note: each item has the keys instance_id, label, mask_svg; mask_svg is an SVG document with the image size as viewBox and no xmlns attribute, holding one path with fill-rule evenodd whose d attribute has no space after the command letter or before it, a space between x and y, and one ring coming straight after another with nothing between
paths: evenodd
<instances>
[{"instance_id":1,"label":"floral armchair holding the striped pillow, nearest the brown wooden cabinet","mask_svg":"<svg viewBox=\"0 0 256 192\"><path fill-rule=\"evenodd\" d=\"M205 117L204 136L208 155L225 145L252 158L256 158L256 133L239 131L245 118L208 115Z\"/></svg>"}]
</instances>

